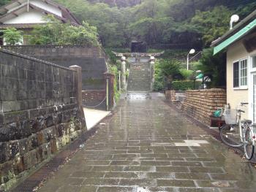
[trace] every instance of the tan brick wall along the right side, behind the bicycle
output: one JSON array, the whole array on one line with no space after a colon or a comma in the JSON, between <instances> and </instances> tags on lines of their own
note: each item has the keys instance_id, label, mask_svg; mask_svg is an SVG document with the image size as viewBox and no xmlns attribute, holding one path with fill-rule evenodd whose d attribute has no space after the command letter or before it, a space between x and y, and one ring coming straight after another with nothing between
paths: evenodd
<instances>
[{"instance_id":1,"label":"tan brick wall along the right side, behind the bicycle","mask_svg":"<svg viewBox=\"0 0 256 192\"><path fill-rule=\"evenodd\" d=\"M210 116L219 107L227 104L225 89L214 88L206 90L191 90L185 92L181 109L200 122L210 126Z\"/></svg>"}]
</instances>

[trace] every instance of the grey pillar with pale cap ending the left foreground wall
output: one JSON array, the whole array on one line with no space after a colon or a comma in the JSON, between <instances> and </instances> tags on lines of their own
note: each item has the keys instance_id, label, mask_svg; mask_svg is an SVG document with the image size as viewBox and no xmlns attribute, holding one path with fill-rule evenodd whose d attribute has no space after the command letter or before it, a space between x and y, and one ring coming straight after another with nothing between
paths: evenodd
<instances>
[{"instance_id":1,"label":"grey pillar with pale cap ending the left foreground wall","mask_svg":"<svg viewBox=\"0 0 256 192\"><path fill-rule=\"evenodd\" d=\"M80 66L69 66L69 69L74 70L75 72L77 72L77 101L78 101L78 108L79 108L79 114L80 114L80 120L82 123L82 126L85 128L85 130L87 131L87 127L86 127L86 118L83 112L83 94L82 94L82 68Z\"/></svg>"}]
</instances>

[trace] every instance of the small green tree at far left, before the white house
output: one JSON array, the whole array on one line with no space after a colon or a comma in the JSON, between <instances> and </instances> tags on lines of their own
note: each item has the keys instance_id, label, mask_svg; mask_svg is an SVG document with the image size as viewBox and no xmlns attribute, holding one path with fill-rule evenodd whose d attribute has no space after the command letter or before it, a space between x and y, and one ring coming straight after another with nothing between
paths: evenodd
<instances>
[{"instance_id":1,"label":"small green tree at far left, before the white house","mask_svg":"<svg viewBox=\"0 0 256 192\"><path fill-rule=\"evenodd\" d=\"M5 30L1 30L4 38L4 42L7 45L19 45L23 42L23 31L18 31L16 28L7 28Z\"/></svg>"}]
</instances>

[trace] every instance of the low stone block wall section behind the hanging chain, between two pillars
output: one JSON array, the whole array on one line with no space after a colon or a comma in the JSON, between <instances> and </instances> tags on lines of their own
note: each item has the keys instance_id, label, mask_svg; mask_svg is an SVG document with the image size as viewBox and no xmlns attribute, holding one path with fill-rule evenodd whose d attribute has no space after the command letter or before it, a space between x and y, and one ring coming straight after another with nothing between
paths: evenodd
<instances>
[{"instance_id":1,"label":"low stone block wall section behind the hanging chain, between two pillars","mask_svg":"<svg viewBox=\"0 0 256 192\"><path fill-rule=\"evenodd\" d=\"M105 90L88 90L83 91L83 106L95 107L97 109L106 109L106 91Z\"/></svg>"}]
</instances>

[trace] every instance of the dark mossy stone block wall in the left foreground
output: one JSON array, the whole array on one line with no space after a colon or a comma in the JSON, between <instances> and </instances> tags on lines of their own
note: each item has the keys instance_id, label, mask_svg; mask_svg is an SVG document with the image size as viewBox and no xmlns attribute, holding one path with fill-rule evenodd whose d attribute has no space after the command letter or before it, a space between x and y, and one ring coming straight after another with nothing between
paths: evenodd
<instances>
[{"instance_id":1,"label":"dark mossy stone block wall in the left foreground","mask_svg":"<svg viewBox=\"0 0 256 192\"><path fill-rule=\"evenodd\" d=\"M78 76L0 50L0 191L86 130Z\"/></svg>"}]
</instances>

